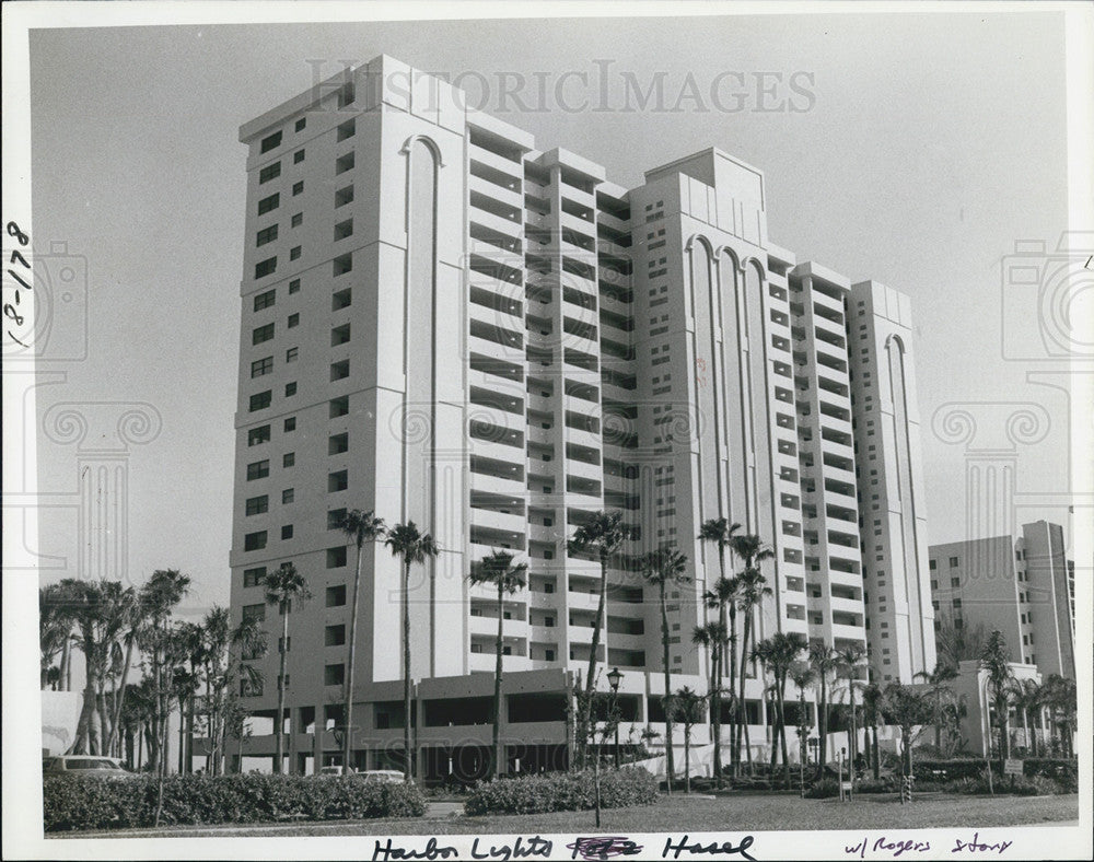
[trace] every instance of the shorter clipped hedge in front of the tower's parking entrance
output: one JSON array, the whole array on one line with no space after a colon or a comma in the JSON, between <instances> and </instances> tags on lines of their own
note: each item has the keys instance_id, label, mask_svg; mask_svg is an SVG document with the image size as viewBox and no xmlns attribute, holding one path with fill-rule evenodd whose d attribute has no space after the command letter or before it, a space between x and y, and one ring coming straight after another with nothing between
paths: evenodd
<instances>
[{"instance_id":1,"label":"shorter clipped hedge in front of the tower's parking entrance","mask_svg":"<svg viewBox=\"0 0 1094 862\"><path fill-rule=\"evenodd\" d=\"M480 784L464 803L467 814L544 814L595 807L593 772L548 772ZM657 780L641 768L601 773L601 807L649 805L657 800Z\"/></svg>"}]
</instances>

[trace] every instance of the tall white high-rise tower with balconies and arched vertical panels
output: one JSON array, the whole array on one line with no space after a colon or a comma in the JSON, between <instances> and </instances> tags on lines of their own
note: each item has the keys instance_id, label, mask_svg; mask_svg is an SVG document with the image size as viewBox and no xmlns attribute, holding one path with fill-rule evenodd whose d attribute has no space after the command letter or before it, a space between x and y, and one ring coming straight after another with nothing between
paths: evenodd
<instances>
[{"instance_id":1,"label":"tall white high-rise tower with balconies and arched vertical panels","mask_svg":"<svg viewBox=\"0 0 1094 862\"><path fill-rule=\"evenodd\" d=\"M347 509L412 520L441 547L408 593L427 778L472 768L489 739L498 601L467 575L493 549L529 567L502 609L510 766L565 756L600 586L567 539L600 510L633 528L598 650L624 674L625 738L664 731L661 609L640 564L663 544L689 561L666 596L672 684L707 687L691 634L719 575L696 538L709 519L773 551L757 640L869 645L880 680L933 666L908 300L771 243L760 171L711 148L627 189L389 57L240 139L232 607L265 616L261 580L282 562L311 583L288 644L293 769L338 748ZM375 766L405 720L399 561L365 546L362 583L353 747ZM267 682L245 702L272 717L277 656L256 666ZM759 746L763 688L749 665ZM247 745L272 752L269 736Z\"/></svg>"}]
</instances>

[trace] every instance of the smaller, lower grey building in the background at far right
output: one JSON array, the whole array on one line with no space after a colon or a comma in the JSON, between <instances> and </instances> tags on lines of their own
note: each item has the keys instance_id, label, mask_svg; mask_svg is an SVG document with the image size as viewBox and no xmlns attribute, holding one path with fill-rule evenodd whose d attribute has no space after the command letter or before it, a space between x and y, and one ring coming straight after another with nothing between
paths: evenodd
<instances>
[{"instance_id":1,"label":"smaller, lower grey building in the background at far right","mask_svg":"<svg viewBox=\"0 0 1094 862\"><path fill-rule=\"evenodd\" d=\"M932 545L930 572L940 621L998 630L1014 662L1075 678L1074 566L1058 524L1024 524L1019 538Z\"/></svg>"}]
</instances>

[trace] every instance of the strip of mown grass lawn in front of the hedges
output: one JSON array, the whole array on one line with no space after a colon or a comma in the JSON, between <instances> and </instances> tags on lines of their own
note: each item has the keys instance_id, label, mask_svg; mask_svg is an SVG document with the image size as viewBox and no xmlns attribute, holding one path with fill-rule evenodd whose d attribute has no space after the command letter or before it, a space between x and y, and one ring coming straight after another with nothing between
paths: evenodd
<instances>
[{"instance_id":1,"label":"strip of mown grass lawn in front of the hedges","mask_svg":"<svg viewBox=\"0 0 1094 862\"><path fill-rule=\"evenodd\" d=\"M665 796L656 805L606 808L601 834L637 835L680 831L783 831L816 829L891 829L928 827L1016 826L1076 820L1079 796L954 796L931 794L900 805L888 795L862 794L853 803L802 800L794 796ZM127 829L110 832L55 832L48 837L158 838L201 836L363 836L363 835L529 835L584 832L594 828L593 813L560 812L484 817L420 817L397 820L356 820L268 826L178 826L170 829Z\"/></svg>"}]
</instances>

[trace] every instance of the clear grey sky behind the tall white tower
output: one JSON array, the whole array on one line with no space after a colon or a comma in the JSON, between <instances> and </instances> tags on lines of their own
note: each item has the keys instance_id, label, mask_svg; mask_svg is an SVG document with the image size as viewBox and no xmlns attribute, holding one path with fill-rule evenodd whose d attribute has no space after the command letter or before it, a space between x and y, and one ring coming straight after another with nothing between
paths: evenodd
<instances>
[{"instance_id":1,"label":"clear grey sky behind the tall white tower","mask_svg":"<svg viewBox=\"0 0 1094 862\"><path fill-rule=\"evenodd\" d=\"M1054 249L1068 228L1059 13L58 28L30 48L34 247L75 258L82 293L57 314L86 333L39 374L38 428L61 403L154 408L159 432L126 461L127 576L182 569L191 611L229 598L238 126L379 54L462 75L539 149L621 186L709 145L763 170L772 242L911 298L929 541L964 538L976 508L965 444L932 421L956 407L978 422L973 445L1013 450L1015 523L1067 526L1068 394L1028 380L1057 365L1035 359L1034 294L1001 282L1016 242ZM628 104L628 77L660 80L664 101ZM1035 429L1014 443L1022 409ZM59 501L38 512L49 579L78 567L79 446L56 438L37 453L39 492Z\"/></svg>"}]
</instances>

